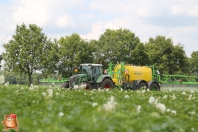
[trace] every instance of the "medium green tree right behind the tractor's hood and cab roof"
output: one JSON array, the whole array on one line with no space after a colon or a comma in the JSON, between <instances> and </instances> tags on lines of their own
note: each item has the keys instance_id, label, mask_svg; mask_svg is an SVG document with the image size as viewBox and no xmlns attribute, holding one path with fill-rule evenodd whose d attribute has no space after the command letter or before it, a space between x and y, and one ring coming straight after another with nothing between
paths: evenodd
<instances>
[{"instance_id":1,"label":"medium green tree right behind the tractor's hood and cab roof","mask_svg":"<svg viewBox=\"0 0 198 132\"><path fill-rule=\"evenodd\" d=\"M63 77L71 76L74 68L81 63L93 62L93 45L81 39L74 33L71 36L61 37L59 44L59 73Z\"/></svg>"}]
</instances>

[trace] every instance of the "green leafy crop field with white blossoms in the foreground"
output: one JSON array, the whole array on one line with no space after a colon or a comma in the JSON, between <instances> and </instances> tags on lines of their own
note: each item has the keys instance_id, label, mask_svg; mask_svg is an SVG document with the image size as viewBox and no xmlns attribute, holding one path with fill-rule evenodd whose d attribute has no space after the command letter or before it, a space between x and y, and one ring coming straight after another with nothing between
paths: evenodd
<instances>
[{"instance_id":1,"label":"green leafy crop field with white blossoms in the foreground","mask_svg":"<svg viewBox=\"0 0 198 132\"><path fill-rule=\"evenodd\" d=\"M197 98L195 88L89 91L0 85L0 119L17 114L21 132L196 132Z\"/></svg>"}]
</instances>

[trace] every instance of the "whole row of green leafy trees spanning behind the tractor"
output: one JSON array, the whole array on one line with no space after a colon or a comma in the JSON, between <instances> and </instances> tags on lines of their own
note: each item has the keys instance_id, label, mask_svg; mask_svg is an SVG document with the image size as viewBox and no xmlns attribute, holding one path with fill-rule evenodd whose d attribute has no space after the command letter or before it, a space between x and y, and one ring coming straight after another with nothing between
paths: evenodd
<instances>
[{"instance_id":1,"label":"whole row of green leafy trees spanning behind the tractor","mask_svg":"<svg viewBox=\"0 0 198 132\"><path fill-rule=\"evenodd\" d=\"M12 39L3 44L4 72L26 76L30 85L32 75L69 77L81 63L125 62L133 65L155 65L161 74L193 74L198 70L198 51L187 57L184 46L173 44L172 38L150 37L141 42L128 29L106 29L98 40L86 40L79 34L48 38L35 24L17 25ZM21 80L23 80L21 78Z\"/></svg>"}]
</instances>

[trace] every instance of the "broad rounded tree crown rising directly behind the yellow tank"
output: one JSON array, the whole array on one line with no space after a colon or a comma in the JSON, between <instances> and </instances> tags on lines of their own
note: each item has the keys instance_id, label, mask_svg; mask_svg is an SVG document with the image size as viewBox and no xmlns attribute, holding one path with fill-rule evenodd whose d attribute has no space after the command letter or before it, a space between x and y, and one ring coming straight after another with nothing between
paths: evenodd
<instances>
[{"instance_id":1,"label":"broad rounded tree crown rising directly behind the yellow tank","mask_svg":"<svg viewBox=\"0 0 198 132\"><path fill-rule=\"evenodd\" d=\"M105 68L109 62L117 63L124 61L125 63L136 63L136 56L139 56L138 49L133 50L140 40L133 32L128 29L111 30L107 29L99 38L95 45L95 58L104 62ZM142 46L141 44L139 46ZM133 59L132 59L133 58ZM137 65L139 62L137 63Z\"/></svg>"}]
</instances>

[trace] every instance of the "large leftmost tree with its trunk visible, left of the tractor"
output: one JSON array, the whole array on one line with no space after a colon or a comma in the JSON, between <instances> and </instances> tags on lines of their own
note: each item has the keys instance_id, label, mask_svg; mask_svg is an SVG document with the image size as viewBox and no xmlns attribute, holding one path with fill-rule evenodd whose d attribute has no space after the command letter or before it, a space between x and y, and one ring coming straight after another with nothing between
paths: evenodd
<instances>
[{"instance_id":1,"label":"large leftmost tree with its trunk visible, left of the tractor","mask_svg":"<svg viewBox=\"0 0 198 132\"><path fill-rule=\"evenodd\" d=\"M30 86L33 72L43 68L44 61L48 61L46 49L51 47L51 42L42 33L42 28L35 24L29 24L28 27L25 24L17 25L12 39L3 46L5 68L9 71L27 74Z\"/></svg>"}]
</instances>

